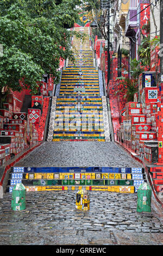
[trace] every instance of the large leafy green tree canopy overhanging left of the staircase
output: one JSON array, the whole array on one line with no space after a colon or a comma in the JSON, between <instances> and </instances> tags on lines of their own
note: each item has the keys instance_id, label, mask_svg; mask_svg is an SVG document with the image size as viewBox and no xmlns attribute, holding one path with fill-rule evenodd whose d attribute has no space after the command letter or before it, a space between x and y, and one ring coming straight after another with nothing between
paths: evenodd
<instances>
[{"instance_id":1,"label":"large leafy green tree canopy overhanging left of the staircase","mask_svg":"<svg viewBox=\"0 0 163 256\"><path fill-rule=\"evenodd\" d=\"M0 90L8 86L19 91L22 81L36 93L36 82L46 73L58 82L60 58L74 59L70 47L74 32L67 28L77 21L79 4L80 0L0 1Z\"/></svg>"}]
</instances>

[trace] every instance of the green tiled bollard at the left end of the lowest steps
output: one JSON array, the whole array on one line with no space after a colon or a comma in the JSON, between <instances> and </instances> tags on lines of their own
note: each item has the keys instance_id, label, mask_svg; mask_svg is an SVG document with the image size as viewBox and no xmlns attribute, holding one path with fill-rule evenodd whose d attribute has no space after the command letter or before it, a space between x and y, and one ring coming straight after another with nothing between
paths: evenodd
<instances>
[{"instance_id":1,"label":"green tiled bollard at the left end of the lowest steps","mask_svg":"<svg viewBox=\"0 0 163 256\"><path fill-rule=\"evenodd\" d=\"M26 209L26 187L22 183L16 184L12 190L11 209L14 211Z\"/></svg>"}]
</instances>

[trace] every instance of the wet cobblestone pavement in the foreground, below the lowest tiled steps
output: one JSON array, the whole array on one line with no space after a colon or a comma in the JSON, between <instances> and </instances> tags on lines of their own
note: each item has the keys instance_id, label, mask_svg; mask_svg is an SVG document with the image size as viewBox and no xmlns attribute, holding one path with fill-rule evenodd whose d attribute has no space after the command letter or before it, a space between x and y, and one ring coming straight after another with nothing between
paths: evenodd
<instances>
[{"instance_id":1,"label":"wet cobblestone pavement in the foreground, below the lowest tiled steps","mask_svg":"<svg viewBox=\"0 0 163 256\"><path fill-rule=\"evenodd\" d=\"M26 210L0 199L0 245L163 245L155 210L136 213L136 194L90 192L90 210L75 208L76 191L27 192Z\"/></svg>"}]
</instances>

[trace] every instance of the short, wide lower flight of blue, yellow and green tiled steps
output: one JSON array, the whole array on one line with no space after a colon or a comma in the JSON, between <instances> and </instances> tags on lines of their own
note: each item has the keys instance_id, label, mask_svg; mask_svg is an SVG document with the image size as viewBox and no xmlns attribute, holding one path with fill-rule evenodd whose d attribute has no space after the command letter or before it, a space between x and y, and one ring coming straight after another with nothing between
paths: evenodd
<instances>
[{"instance_id":1,"label":"short, wide lower flight of blue, yellow and green tiled steps","mask_svg":"<svg viewBox=\"0 0 163 256\"><path fill-rule=\"evenodd\" d=\"M7 191L17 183L27 191L86 190L135 193L146 182L143 168L116 167L13 167Z\"/></svg>"}]
</instances>

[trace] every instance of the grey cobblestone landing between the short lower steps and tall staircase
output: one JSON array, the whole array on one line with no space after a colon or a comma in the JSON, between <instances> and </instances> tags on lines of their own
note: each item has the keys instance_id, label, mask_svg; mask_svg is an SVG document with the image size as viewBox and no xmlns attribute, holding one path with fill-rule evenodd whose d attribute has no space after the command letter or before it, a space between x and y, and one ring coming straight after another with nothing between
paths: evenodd
<instances>
[{"instance_id":1,"label":"grey cobblestone landing between the short lower steps and tall staircase","mask_svg":"<svg viewBox=\"0 0 163 256\"><path fill-rule=\"evenodd\" d=\"M141 167L114 142L45 142L16 166Z\"/></svg>"}]
</instances>

